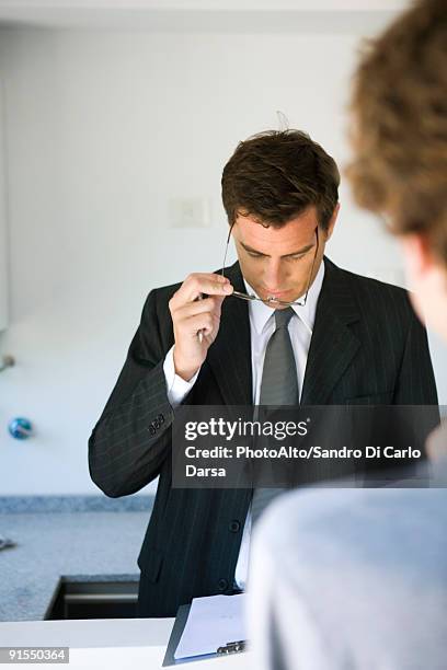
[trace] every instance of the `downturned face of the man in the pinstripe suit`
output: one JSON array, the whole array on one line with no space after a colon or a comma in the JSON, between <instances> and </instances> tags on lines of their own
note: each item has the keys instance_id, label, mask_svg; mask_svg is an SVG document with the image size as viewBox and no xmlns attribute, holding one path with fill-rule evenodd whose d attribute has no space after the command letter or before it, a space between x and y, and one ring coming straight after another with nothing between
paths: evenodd
<instances>
[{"instance_id":1,"label":"downturned face of the man in the pinstripe suit","mask_svg":"<svg viewBox=\"0 0 447 670\"><path fill-rule=\"evenodd\" d=\"M319 229L317 210L309 207L282 228L264 228L251 217L239 216L232 229L242 275L262 299L275 297L294 301L306 293L313 281L332 234L339 206L328 232ZM316 258L312 269L313 258ZM312 273L312 274L311 274ZM311 276L310 276L311 275Z\"/></svg>"}]
</instances>

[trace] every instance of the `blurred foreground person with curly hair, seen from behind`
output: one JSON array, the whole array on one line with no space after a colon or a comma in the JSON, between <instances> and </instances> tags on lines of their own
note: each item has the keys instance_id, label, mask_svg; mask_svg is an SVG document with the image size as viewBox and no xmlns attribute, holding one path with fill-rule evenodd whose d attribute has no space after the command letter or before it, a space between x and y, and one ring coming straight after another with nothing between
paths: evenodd
<instances>
[{"instance_id":1,"label":"blurred foreground person with curly hair, seen from behind","mask_svg":"<svg viewBox=\"0 0 447 670\"><path fill-rule=\"evenodd\" d=\"M447 342L447 13L419 0L365 53L352 99L354 195L398 235L417 313ZM293 492L257 527L259 670L444 670L447 424L434 488Z\"/></svg>"}]
</instances>

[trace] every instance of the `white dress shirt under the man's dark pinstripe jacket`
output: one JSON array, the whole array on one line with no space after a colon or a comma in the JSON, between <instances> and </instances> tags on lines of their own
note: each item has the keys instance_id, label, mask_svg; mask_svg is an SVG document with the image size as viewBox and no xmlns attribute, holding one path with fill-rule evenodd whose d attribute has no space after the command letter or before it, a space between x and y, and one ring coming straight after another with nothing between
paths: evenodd
<instances>
[{"instance_id":1,"label":"white dress shirt under the man's dark pinstripe jacket","mask_svg":"<svg viewBox=\"0 0 447 670\"><path fill-rule=\"evenodd\" d=\"M317 302L320 296L321 287L324 278L324 263L321 263L312 286L309 289L307 302L305 307L291 305L298 319L290 319L288 330L290 333L291 346L297 366L298 389L301 397L302 382L305 379L307 358L312 337L313 324L316 321ZM253 289L244 280L245 290L248 293L255 293ZM261 393L262 370L264 366L264 356L267 342L275 331L274 309L267 307L264 302L252 300L249 302L250 316L250 334L251 334L251 354L252 354L252 389L253 404L259 404ZM183 380L175 374L174 347L168 351L164 363L164 377L167 380L168 400L172 407L176 407L187 395L193 388L199 370L190 381ZM251 536L251 508L247 515L245 524L243 528L241 547L239 551L238 563L236 566L234 582L238 588L244 589L247 584L247 575L249 570L249 554L250 554L250 536Z\"/></svg>"}]
</instances>

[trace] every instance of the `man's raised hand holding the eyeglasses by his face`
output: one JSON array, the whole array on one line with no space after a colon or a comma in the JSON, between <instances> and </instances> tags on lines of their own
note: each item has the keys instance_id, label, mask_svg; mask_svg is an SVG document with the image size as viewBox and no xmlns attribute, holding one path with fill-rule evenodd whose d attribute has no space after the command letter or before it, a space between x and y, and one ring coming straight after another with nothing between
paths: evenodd
<instances>
[{"instance_id":1,"label":"man's raised hand holding the eyeglasses by his face","mask_svg":"<svg viewBox=\"0 0 447 670\"><path fill-rule=\"evenodd\" d=\"M175 373L182 379L190 381L204 362L219 332L224 299L232 290L229 279L221 275L194 273L169 301L174 326ZM207 297L199 300L203 294ZM199 331L202 342L197 336Z\"/></svg>"}]
</instances>

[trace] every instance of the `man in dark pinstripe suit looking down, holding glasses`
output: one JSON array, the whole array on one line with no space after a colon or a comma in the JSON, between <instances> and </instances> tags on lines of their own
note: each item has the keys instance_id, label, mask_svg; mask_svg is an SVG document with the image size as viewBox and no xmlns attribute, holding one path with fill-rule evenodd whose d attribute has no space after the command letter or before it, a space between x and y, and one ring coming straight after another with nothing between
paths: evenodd
<instances>
[{"instance_id":1,"label":"man in dark pinstripe suit looking down, holding glasses","mask_svg":"<svg viewBox=\"0 0 447 670\"><path fill-rule=\"evenodd\" d=\"M324 255L339 182L334 160L305 132L240 142L221 181L238 262L224 277L192 274L146 300L89 440L90 473L106 495L160 477L138 556L140 616L173 616L194 597L243 589L252 521L265 507L252 490L172 487L179 404L437 402L406 292ZM282 383L272 383L278 371Z\"/></svg>"}]
</instances>

